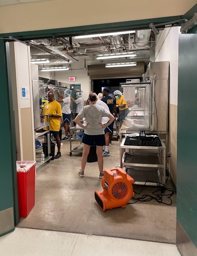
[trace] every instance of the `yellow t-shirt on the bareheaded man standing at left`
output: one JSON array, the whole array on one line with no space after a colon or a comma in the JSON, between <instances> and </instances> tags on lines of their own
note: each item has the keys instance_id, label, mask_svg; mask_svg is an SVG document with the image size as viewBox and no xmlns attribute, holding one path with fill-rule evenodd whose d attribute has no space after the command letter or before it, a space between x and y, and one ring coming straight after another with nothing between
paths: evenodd
<instances>
[{"instance_id":1,"label":"yellow t-shirt on the bareheaded man standing at left","mask_svg":"<svg viewBox=\"0 0 197 256\"><path fill-rule=\"evenodd\" d=\"M46 102L43 108L43 115L58 115L62 116L62 107L57 101ZM45 123L48 122L48 116L44 116ZM50 117L49 118L49 130L51 131L59 131L60 129L60 118ZM44 128L47 130L47 128Z\"/></svg>"}]
</instances>

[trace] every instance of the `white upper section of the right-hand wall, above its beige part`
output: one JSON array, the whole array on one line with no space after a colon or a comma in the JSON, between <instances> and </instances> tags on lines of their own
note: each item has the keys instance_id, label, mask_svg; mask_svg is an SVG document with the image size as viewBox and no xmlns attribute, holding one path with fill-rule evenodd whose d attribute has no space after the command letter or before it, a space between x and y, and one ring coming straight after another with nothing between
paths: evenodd
<instances>
[{"instance_id":1,"label":"white upper section of the right-hand wall, above its beige part","mask_svg":"<svg viewBox=\"0 0 197 256\"><path fill-rule=\"evenodd\" d=\"M156 37L155 61L170 61L170 104L178 100L178 37L179 28L165 28Z\"/></svg>"}]
</instances>

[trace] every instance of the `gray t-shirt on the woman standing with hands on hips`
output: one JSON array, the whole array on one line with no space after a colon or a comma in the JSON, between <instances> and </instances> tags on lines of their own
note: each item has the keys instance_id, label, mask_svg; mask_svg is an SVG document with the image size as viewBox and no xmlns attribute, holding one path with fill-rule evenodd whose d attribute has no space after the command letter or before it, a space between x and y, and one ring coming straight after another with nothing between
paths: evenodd
<instances>
[{"instance_id":1,"label":"gray t-shirt on the woman standing with hands on hips","mask_svg":"<svg viewBox=\"0 0 197 256\"><path fill-rule=\"evenodd\" d=\"M104 134L104 129L100 126L102 117L110 114L103 106L91 104L82 108L79 113L81 118L86 118L86 123L89 124L85 129L87 135L101 135ZM100 123L100 124L99 124Z\"/></svg>"}]
</instances>

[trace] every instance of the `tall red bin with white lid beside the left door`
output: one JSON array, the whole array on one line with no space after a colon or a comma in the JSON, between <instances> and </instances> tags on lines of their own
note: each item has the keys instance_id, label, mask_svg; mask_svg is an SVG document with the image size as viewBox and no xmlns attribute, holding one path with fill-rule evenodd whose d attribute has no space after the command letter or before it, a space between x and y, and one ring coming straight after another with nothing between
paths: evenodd
<instances>
[{"instance_id":1,"label":"tall red bin with white lid beside the left door","mask_svg":"<svg viewBox=\"0 0 197 256\"><path fill-rule=\"evenodd\" d=\"M19 216L27 217L35 204L34 161L16 161Z\"/></svg>"}]
</instances>

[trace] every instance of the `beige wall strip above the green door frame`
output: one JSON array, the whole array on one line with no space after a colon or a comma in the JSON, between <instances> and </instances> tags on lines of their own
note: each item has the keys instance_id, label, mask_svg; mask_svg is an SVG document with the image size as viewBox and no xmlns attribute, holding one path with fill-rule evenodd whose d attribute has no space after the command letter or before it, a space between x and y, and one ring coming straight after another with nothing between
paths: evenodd
<instances>
[{"instance_id":1,"label":"beige wall strip above the green door frame","mask_svg":"<svg viewBox=\"0 0 197 256\"><path fill-rule=\"evenodd\" d=\"M196 0L66 0L0 7L0 33L74 27L182 15Z\"/></svg>"}]
</instances>

